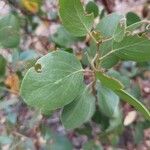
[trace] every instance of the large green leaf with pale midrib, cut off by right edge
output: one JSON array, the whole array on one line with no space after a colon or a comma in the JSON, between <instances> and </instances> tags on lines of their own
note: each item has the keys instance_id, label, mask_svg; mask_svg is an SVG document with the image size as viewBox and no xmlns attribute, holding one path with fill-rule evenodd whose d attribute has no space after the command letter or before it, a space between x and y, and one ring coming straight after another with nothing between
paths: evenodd
<instances>
[{"instance_id":1,"label":"large green leaf with pale midrib, cut off by right edge","mask_svg":"<svg viewBox=\"0 0 150 150\"><path fill-rule=\"evenodd\" d=\"M127 36L119 43L114 42L113 52L124 60L149 61L150 40L144 37Z\"/></svg>"}]
</instances>

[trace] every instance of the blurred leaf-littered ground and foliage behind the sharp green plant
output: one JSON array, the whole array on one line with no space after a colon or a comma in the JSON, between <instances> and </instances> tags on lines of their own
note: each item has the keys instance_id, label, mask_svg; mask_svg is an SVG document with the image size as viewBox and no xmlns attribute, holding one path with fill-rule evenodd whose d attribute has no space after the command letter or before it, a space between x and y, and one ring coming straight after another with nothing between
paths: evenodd
<instances>
[{"instance_id":1,"label":"blurred leaf-littered ground and foliage behind the sharp green plant","mask_svg":"<svg viewBox=\"0 0 150 150\"><path fill-rule=\"evenodd\" d=\"M85 6L89 1L82 0ZM129 24L150 19L149 0L93 2L101 18L118 12L126 15ZM58 8L57 0L35 0L33 5L29 0L0 0L0 18L6 18L6 24L0 21L0 150L150 150L150 122L126 103L120 104L122 113L117 120L110 121L96 112L90 122L67 131L60 123L60 111L43 116L20 98L20 84L26 71L48 52L67 49L86 66L83 51L88 48L88 41L84 37L75 39L64 29ZM7 19L17 35L1 32ZM150 61L122 62L110 73L150 108ZM112 128L111 132L107 133L107 128Z\"/></svg>"}]
</instances>

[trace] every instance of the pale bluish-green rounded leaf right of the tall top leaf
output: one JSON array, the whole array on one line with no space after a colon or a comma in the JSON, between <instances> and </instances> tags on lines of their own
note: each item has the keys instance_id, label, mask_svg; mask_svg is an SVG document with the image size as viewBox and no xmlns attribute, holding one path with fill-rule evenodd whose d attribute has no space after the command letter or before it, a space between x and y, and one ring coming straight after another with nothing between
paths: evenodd
<instances>
[{"instance_id":1,"label":"pale bluish-green rounded leaf right of the tall top leaf","mask_svg":"<svg viewBox=\"0 0 150 150\"><path fill-rule=\"evenodd\" d=\"M97 25L96 30L98 30L104 37L111 37L113 36L122 18L122 15L112 13L100 20L100 23Z\"/></svg>"}]
</instances>

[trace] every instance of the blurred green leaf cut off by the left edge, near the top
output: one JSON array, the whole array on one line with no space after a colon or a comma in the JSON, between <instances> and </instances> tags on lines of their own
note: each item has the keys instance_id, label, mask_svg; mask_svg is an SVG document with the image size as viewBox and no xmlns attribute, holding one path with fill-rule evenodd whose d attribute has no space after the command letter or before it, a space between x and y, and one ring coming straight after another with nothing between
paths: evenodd
<instances>
[{"instance_id":1,"label":"blurred green leaf cut off by the left edge, near the top","mask_svg":"<svg viewBox=\"0 0 150 150\"><path fill-rule=\"evenodd\" d=\"M14 48L19 45L19 20L18 17L9 14L0 20L0 45L4 48Z\"/></svg>"}]
</instances>

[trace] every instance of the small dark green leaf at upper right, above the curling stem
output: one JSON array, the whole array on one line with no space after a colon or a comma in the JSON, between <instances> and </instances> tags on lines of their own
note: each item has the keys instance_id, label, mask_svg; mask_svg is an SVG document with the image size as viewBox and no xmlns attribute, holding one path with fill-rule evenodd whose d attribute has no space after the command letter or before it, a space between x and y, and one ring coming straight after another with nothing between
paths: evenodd
<instances>
[{"instance_id":1,"label":"small dark green leaf at upper right, above the curling stem","mask_svg":"<svg viewBox=\"0 0 150 150\"><path fill-rule=\"evenodd\" d=\"M140 17L133 12L128 12L126 18L127 18L127 26L130 26L134 23L141 21Z\"/></svg>"}]
</instances>

